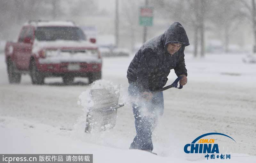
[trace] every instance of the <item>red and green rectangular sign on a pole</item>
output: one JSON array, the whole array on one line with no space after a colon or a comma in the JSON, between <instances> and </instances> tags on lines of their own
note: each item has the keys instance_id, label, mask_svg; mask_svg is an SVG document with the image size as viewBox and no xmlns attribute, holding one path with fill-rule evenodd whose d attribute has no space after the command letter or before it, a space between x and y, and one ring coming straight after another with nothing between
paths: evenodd
<instances>
[{"instance_id":1,"label":"red and green rectangular sign on a pole","mask_svg":"<svg viewBox=\"0 0 256 163\"><path fill-rule=\"evenodd\" d=\"M140 7L140 26L153 26L153 8Z\"/></svg>"}]
</instances>

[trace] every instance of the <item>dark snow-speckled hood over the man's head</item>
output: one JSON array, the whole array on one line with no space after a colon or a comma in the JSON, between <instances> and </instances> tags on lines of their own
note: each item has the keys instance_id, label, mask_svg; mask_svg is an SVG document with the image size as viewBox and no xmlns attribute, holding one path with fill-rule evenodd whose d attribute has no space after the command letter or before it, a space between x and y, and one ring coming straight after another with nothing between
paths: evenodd
<instances>
[{"instance_id":1,"label":"dark snow-speckled hood over the man's head","mask_svg":"<svg viewBox=\"0 0 256 163\"><path fill-rule=\"evenodd\" d=\"M179 22L173 23L164 32L164 48L167 48L168 43L180 43L183 46L188 46L188 36L185 29Z\"/></svg>"}]
</instances>

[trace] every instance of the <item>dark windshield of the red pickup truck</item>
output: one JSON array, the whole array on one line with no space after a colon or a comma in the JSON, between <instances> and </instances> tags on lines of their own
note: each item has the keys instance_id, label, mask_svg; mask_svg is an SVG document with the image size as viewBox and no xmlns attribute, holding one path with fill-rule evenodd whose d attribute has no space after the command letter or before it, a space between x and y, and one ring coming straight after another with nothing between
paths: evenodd
<instances>
[{"instance_id":1,"label":"dark windshield of the red pickup truck","mask_svg":"<svg viewBox=\"0 0 256 163\"><path fill-rule=\"evenodd\" d=\"M85 40L83 31L78 27L37 27L35 36L38 41Z\"/></svg>"}]
</instances>

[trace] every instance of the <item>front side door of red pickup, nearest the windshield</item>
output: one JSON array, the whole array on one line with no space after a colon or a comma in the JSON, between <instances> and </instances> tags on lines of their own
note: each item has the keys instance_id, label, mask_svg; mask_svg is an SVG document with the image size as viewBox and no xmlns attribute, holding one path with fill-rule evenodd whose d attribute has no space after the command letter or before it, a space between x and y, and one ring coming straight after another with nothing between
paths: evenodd
<instances>
[{"instance_id":1,"label":"front side door of red pickup, nearest the windshield","mask_svg":"<svg viewBox=\"0 0 256 163\"><path fill-rule=\"evenodd\" d=\"M33 42L34 42L34 27L31 26L31 27L28 27L27 35L25 36L25 39L24 39L25 53L22 58L24 63L22 69L24 70L28 70L29 68Z\"/></svg>"}]
</instances>

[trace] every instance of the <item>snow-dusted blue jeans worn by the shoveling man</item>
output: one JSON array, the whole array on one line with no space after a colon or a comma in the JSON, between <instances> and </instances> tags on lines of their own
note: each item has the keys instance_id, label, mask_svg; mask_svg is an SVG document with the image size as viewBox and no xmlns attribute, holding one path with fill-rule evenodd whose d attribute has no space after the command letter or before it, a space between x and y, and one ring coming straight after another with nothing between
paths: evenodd
<instances>
[{"instance_id":1,"label":"snow-dusted blue jeans worn by the shoveling man","mask_svg":"<svg viewBox=\"0 0 256 163\"><path fill-rule=\"evenodd\" d=\"M143 101L138 93L138 87L130 83L128 88L132 99L132 110L135 118L136 136L130 149L153 151L152 132L157 125L159 116L164 113L163 92L154 93L151 101Z\"/></svg>"}]
</instances>

